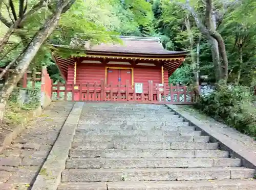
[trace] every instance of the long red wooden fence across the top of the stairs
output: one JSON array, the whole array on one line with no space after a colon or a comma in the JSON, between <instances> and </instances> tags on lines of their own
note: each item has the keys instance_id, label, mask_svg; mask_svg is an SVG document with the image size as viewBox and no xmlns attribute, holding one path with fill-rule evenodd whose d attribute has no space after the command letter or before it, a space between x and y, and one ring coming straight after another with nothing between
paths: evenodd
<instances>
[{"instance_id":1,"label":"long red wooden fence across the top of the stairs","mask_svg":"<svg viewBox=\"0 0 256 190\"><path fill-rule=\"evenodd\" d=\"M186 86L155 85L149 81L144 84L143 92L136 92L135 86L105 85L102 79L100 84L60 84L52 86L52 98L72 101L115 101L115 102L141 102L141 103L170 103L192 104L195 102L195 93L190 92Z\"/></svg>"}]
</instances>

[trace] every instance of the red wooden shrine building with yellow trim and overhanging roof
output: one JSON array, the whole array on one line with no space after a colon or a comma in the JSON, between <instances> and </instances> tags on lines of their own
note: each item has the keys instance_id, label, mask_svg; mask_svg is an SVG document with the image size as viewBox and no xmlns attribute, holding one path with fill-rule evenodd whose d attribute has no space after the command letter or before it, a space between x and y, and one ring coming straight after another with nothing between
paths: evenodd
<instances>
[{"instance_id":1,"label":"red wooden shrine building with yellow trim and overhanging roof","mask_svg":"<svg viewBox=\"0 0 256 190\"><path fill-rule=\"evenodd\" d=\"M104 88L142 89L149 84L168 84L168 77L182 64L186 51L165 50L155 37L119 37L122 43L84 45L84 57L63 59L56 64L67 84L102 84ZM55 46L60 48L61 46ZM61 47L62 48L62 47ZM74 47L75 49L75 47ZM77 90L78 87L75 87ZM83 88L82 88L83 89ZM75 100L79 99L75 96Z\"/></svg>"}]
</instances>

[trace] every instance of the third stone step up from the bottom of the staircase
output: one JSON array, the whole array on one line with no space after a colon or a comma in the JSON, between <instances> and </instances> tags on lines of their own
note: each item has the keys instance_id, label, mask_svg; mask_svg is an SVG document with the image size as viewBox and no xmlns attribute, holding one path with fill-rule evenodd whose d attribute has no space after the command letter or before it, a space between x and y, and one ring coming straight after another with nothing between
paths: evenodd
<instances>
[{"instance_id":1,"label":"third stone step up from the bottom of the staircase","mask_svg":"<svg viewBox=\"0 0 256 190\"><path fill-rule=\"evenodd\" d=\"M238 158L69 158L66 168L239 167Z\"/></svg>"}]
</instances>

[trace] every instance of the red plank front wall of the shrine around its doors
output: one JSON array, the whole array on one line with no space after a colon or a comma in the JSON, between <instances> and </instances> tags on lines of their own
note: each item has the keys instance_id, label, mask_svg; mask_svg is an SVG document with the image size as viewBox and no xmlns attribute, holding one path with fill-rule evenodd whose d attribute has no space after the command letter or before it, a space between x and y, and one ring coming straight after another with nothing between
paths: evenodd
<instances>
[{"instance_id":1,"label":"red plank front wall of the shrine around its doors","mask_svg":"<svg viewBox=\"0 0 256 190\"><path fill-rule=\"evenodd\" d=\"M111 67L130 67L128 65L111 65ZM100 64L81 63L76 69L76 84L79 83L100 83L101 79L105 79L105 66ZM69 66L68 84L74 80L74 65ZM153 84L162 83L161 68L155 67L135 67L134 83L148 84L148 80L153 80ZM168 84L168 72L164 69L164 83Z\"/></svg>"}]
</instances>

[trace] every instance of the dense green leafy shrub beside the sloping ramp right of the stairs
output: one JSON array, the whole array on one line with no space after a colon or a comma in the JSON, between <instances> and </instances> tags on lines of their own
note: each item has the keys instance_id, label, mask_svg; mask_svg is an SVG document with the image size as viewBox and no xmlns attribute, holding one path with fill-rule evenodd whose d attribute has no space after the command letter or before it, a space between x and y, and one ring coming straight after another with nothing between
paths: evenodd
<instances>
[{"instance_id":1,"label":"dense green leafy shrub beside the sloping ramp right of the stairs","mask_svg":"<svg viewBox=\"0 0 256 190\"><path fill-rule=\"evenodd\" d=\"M200 97L196 108L237 130L256 138L256 109L253 93L243 86L220 86L208 96Z\"/></svg>"}]
</instances>

